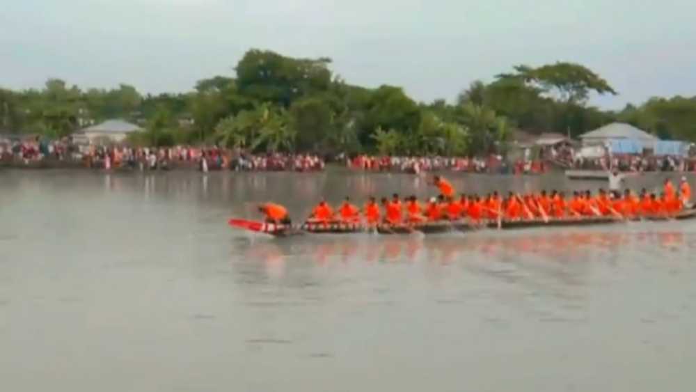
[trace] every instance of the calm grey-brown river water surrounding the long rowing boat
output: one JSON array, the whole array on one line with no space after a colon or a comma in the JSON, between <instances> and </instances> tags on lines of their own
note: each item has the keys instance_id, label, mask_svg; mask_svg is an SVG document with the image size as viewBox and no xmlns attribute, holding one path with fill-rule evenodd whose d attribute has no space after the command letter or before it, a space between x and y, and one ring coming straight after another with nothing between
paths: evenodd
<instances>
[{"instance_id":1,"label":"calm grey-brown river water surrounding the long rowing boat","mask_svg":"<svg viewBox=\"0 0 696 392\"><path fill-rule=\"evenodd\" d=\"M255 201L299 220L321 195L397 190L429 191L336 171L0 171L2 390L695 388L695 221L293 240L226 226Z\"/></svg>"}]
</instances>

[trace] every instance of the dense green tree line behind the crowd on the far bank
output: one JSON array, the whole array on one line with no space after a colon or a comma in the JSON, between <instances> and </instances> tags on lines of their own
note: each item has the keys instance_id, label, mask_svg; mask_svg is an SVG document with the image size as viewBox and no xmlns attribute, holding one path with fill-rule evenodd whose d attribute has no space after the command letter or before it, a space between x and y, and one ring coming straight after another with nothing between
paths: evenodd
<instances>
[{"instance_id":1,"label":"dense green tree line behind the crowd on the far bank","mask_svg":"<svg viewBox=\"0 0 696 392\"><path fill-rule=\"evenodd\" d=\"M134 143L219 143L255 151L483 154L512 130L577 135L619 120L663 139L696 141L696 97L652 98L603 111L590 94L616 94L582 65L518 65L475 81L455 104L416 102L396 86L363 88L333 74L329 58L289 58L252 49L235 75L198 81L189 93L142 95L134 86L81 90L50 79L41 90L0 89L0 132L68 135L124 118L146 132Z\"/></svg>"}]
</instances>

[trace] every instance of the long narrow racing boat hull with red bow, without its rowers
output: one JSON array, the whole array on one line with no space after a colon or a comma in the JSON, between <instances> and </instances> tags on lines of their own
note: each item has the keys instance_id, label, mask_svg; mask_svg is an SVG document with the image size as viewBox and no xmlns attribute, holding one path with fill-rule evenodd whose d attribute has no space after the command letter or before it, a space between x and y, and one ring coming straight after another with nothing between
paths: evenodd
<instances>
[{"instance_id":1,"label":"long narrow racing boat hull with red bow, without its rowers","mask_svg":"<svg viewBox=\"0 0 696 392\"><path fill-rule=\"evenodd\" d=\"M632 221L683 221L686 219L696 218L696 208L683 210L679 214L672 217L654 216L642 217L638 219L630 219ZM549 218L549 219L502 219L498 221L484 220L480 223L471 221L434 221L423 224L377 224L366 225L360 223L345 223L345 222L329 222L329 223L314 223L307 222L301 225L283 225L273 224L261 221L248 221L245 219L230 219L228 224L234 228L253 231L255 233L266 233L276 237L287 237L292 235L303 234L346 234L346 233L379 233L383 235L393 234L411 234L411 233L448 233L448 232L468 232L473 230L481 230L484 228L500 229L500 230L519 230L523 228L541 228L541 227L574 227L574 226L594 226L594 225L610 225L626 222L627 219L619 217L564 217L564 218Z\"/></svg>"}]
</instances>

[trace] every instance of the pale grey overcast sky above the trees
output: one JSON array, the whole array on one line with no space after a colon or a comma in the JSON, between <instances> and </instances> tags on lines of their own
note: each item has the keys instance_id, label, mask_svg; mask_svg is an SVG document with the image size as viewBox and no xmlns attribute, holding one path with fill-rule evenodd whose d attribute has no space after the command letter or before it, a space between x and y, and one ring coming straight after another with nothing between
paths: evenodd
<instances>
[{"instance_id":1,"label":"pale grey overcast sky above the trees","mask_svg":"<svg viewBox=\"0 0 696 392\"><path fill-rule=\"evenodd\" d=\"M6 0L0 85L133 84L189 91L233 75L247 49L329 56L349 83L454 100L512 65L582 63L608 79L606 108L696 95L691 0Z\"/></svg>"}]
</instances>

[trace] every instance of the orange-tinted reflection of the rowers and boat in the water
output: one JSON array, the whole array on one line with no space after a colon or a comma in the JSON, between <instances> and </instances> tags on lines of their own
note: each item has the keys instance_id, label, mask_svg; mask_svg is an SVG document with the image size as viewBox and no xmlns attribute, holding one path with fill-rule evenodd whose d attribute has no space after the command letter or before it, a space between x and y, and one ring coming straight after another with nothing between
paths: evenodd
<instances>
[{"instance_id":1,"label":"orange-tinted reflection of the rowers and boat in the water","mask_svg":"<svg viewBox=\"0 0 696 392\"><path fill-rule=\"evenodd\" d=\"M619 232L560 230L548 233L480 233L445 235L306 235L283 239L246 239L246 260L271 264L287 258L318 265L331 262L427 262L448 265L456 262L535 260L537 262L612 262L619 253L640 250L688 251L690 233L677 230ZM638 249L637 249L638 248Z\"/></svg>"}]
</instances>

